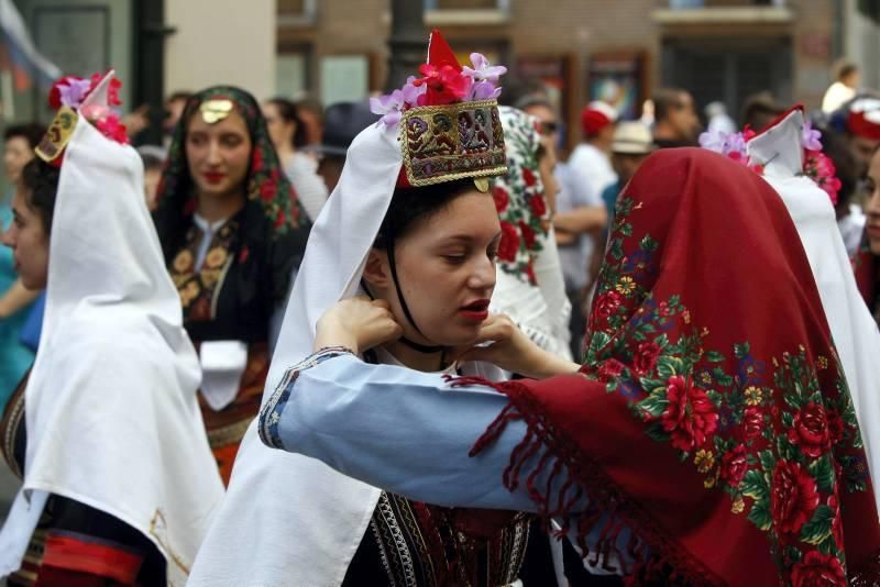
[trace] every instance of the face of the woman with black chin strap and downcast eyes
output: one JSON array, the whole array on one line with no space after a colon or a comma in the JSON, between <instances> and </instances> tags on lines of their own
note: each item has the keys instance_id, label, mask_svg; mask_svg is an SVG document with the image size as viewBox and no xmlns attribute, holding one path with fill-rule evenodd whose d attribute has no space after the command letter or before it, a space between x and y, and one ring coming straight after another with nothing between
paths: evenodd
<instances>
[{"instance_id":1,"label":"face of the woman with black chin strap and downcast eyes","mask_svg":"<svg viewBox=\"0 0 880 587\"><path fill-rule=\"evenodd\" d=\"M395 247L397 277L419 335L404 313L387 255L387 281L375 291L388 300L404 336L421 344L455 346L476 340L495 289L501 224L490 193L471 190L410 226ZM370 277L367 276L367 280Z\"/></svg>"}]
</instances>

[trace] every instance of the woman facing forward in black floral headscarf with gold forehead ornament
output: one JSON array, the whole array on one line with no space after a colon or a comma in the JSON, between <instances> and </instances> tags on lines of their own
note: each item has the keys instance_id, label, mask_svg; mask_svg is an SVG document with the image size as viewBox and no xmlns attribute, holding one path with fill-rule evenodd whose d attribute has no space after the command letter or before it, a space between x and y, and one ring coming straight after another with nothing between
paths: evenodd
<instances>
[{"instance_id":1,"label":"woman facing forward in black floral headscarf with gold forehead ornament","mask_svg":"<svg viewBox=\"0 0 880 587\"><path fill-rule=\"evenodd\" d=\"M254 98L213 87L184 109L154 214L199 350L199 398L226 481L268 370L272 321L308 239Z\"/></svg>"}]
</instances>

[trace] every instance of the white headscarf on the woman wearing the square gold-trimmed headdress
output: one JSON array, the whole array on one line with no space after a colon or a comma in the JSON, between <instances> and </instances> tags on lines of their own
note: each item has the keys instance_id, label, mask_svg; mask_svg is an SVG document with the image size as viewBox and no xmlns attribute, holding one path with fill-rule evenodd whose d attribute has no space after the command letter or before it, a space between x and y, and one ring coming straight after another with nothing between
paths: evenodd
<instances>
[{"instance_id":1,"label":"white headscarf on the woman wearing the square gold-trimmed headdress","mask_svg":"<svg viewBox=\"0 0 880 587\"><path fill-rule=\"evenodd\" d=\"M349 148L339 184L311 229L264 401L285 370L311 354L316 323L324 311L358 292L403 165L398 130L372 125ZM490 378L501 375L481 364L464 370ZM381 494L319 461L266 447L254 421L189 584L340 585Z\"/></svg>"}]
</instances>

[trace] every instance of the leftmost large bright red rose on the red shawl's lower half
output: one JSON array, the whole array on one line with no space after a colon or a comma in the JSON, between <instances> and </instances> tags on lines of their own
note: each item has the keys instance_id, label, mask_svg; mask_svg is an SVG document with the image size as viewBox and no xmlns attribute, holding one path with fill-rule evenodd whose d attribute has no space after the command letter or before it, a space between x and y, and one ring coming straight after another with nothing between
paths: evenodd
<instances>
[{"instance_id":1,"label":"leftmost large bright red rose on the red shawl's lower half","mask_svg":"<svg viewBox=\"0 0 880 587\"><path fill-rule=\"evenodd\" d=\"M673 375L667 381L667 401L660 418L672 446L686 452L705 444L718 427L718 413L706 392L694 387L690 377Z\"/></svg>"}]
</instances>

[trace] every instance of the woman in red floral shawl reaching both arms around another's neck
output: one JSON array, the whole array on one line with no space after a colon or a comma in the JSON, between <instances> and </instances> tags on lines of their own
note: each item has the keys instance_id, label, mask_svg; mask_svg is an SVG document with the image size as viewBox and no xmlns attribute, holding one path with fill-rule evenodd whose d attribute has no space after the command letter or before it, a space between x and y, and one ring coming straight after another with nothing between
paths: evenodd
<instances>
[{"instance_id":1,"label":"woman in red floral shawl reaching both arms around another's neck","mask_svg":"<svg viewBox=\"0 0 880 587\"><path fill-rule=\"evenodd\" d=\"M383 320L350 300L316 347L362 351ZM514 350L516 333L487 337L496 348L476 353L520 373L576 368ZM495 395L324 347L288 370L261 436L416 499L530 507L635 583L880 582L851 399L798 233L756 174L698 149L644 164L579 370Z\"/></svg>"}]
</instances>

